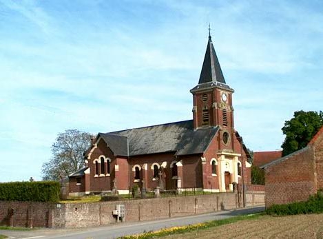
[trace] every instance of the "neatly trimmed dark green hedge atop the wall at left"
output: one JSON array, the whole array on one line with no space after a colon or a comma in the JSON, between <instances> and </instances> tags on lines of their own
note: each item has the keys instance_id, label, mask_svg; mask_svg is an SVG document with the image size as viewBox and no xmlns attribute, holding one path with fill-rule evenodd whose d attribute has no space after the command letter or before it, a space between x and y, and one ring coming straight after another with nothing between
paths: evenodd
<instances>
[{"instance_id":1,"label":"neatly trimmed dark green hedge atop the wall at left","mask_svg":"<svg viewBox=\"0 0 323 239\"><path fill-rule=\"evenodd\" d=\"M59 193L54 181L0 183L0 200L59 202Z\"/></svg>"}]
</instances>

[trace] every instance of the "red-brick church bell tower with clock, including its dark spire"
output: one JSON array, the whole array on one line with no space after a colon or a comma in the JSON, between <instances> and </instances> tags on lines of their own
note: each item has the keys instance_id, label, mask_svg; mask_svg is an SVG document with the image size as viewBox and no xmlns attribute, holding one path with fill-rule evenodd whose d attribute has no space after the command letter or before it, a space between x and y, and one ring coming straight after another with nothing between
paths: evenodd
<instances>
[{"instance_id":1,"label":"red-brick church bell tower with clock, including its dark spire","mask_svg":"<svg viewBox=\"0 0 323 239\"><path fill-rule=\"evenodd\" d=\"M210 34L200 80L190 92L193 94L194 103L194 129L216 126L233 129L234 90L225 82Z\"/></svg>"}]
</instances>

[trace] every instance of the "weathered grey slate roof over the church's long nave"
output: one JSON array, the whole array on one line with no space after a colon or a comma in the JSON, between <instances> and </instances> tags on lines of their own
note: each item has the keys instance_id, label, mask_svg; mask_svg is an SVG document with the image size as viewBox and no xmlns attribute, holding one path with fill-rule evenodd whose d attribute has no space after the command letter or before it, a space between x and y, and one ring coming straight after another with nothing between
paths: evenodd
<instances>
[{"instance_id":1,"label":"weathered grey slate roof over the church's long nave","mask_svg":"<svg viewBox=\"0 0 323 239\"><path fill-rule=\"evenodd\" d=\"M218 127L206 127L194 131L193 121L190 120L106 134L99 133L99 136L116 155L136 156L165 152L189 155L204 152L218 129Z\"/></svg>"}]
</instances>

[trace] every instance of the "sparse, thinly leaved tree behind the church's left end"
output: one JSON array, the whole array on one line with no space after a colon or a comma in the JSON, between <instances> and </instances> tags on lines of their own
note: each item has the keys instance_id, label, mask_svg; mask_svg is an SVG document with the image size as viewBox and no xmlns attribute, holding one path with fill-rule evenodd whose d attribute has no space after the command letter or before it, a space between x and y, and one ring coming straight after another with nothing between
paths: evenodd
<instances>
[{"instance_id":1,"label":"sparse, thinly leaved tree behind the church's left end","mask_svg":"<svg viewBox=\"0 0 323 239\"><path fill-rule=\"evenodd\" d=\"M91 145L91 135L77 129L59 133L52 145L52 158L43 163L43 180L59 180L84 167L83 153Z\"/></svg>"}]
</instances>

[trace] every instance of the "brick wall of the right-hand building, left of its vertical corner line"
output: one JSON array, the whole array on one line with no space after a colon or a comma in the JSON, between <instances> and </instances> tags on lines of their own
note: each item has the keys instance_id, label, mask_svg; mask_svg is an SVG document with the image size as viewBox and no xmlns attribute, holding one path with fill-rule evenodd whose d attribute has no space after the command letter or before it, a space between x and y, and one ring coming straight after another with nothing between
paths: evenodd
<instances>
[{"instance_id":1,"label":"brick wall of the right-hand building, left of its vertical corner line","mask_svg":"<svg viewBox=\"0 0 323 239\"><path fill-rule=\"evenodd\" d=\"M316 192L313 149L285 158L277 165L266 169L266 207L307 200Z\"/></svg>"}]
</instances>

